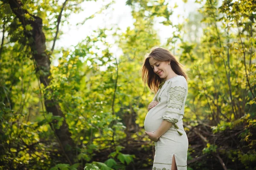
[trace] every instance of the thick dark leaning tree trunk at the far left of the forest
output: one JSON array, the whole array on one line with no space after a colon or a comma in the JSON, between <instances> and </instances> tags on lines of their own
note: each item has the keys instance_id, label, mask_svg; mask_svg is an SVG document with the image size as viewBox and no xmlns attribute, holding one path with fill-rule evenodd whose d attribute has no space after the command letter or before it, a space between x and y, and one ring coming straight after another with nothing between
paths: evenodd
<instances>
[{"instance_id":1,"label":"thick dark leaning tree trunk at the far left of the forest","mask_svg":"<svg viewBox=\"0 0 256 170\"><path fill-rule=\"evenodd\" d=\"M46 53L46 45L45 45L45 35L42 31L42 19L40 17L33 16L29 14L28 11L22 9L23 4L20 0L9 0L9 5L12 9L12 12L17 16L20 22L24 26L30 24L32 26L32 34L29 34L28 31L24 31L24 35L28 38L32 38L32 42L29 42L29 46L32 50L32 56L35 59L36 63L36 72L40 71L40 82L44 84L46 88L50 84L50 60L49 55ZM32 16L34 20L28 20L24 17L25 14L29 14ZM26 44L24 44L26 45ZM42 74L43 73L43 74ZM50 89L47 89L50 90ZM71 138L71 133L69 132L69 128L67 122L65 121L65 117L63 112L61 111L58 104L55 103L53 99L44 98L44 105L46 107L47 112L52 112L54 116L61 116L64 118L64 121L59 129L55 129L53 126L52 130L54 130L55 136L60 144L62 151L64 152L64 156L70 164L73 164L73 158L75 155L75 143ZM54 120L52 124L56 124L58 121Z\"/></svg>"}]
</instances>

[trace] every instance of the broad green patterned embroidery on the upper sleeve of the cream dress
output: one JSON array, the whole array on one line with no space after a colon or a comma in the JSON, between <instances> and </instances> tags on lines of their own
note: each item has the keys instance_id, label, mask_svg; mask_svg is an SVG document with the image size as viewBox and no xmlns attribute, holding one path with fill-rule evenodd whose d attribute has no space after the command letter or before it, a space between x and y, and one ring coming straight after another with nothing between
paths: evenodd
<instances>
[{"instance_id":1,"label":"broad green patterned embroidery on the upper sleeve of the cream dress","mask_svg":"<svg viewBox=\"0 0 256 170\"><path fill-rule=\"evenodd\" d=\"M186 89L181 86L171 87L169 90L169 101L167 107L182 109L186 95Z\"/></svg>"}]
</instances>

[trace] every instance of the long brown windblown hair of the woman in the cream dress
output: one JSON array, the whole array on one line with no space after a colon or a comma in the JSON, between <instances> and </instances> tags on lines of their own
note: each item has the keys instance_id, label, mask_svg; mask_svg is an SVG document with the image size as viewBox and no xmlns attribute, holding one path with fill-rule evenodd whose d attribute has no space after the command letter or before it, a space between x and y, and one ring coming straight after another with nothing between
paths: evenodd
<instances>
[{"instance_id":1,"label":"long brown windblown hair of the woman in the cream dress","mask_svg":"<svg viewBox=\"0 0 256 170\"><path fill-rule=\"evenodd\" d=\"M142 79L144 84L148 84L149 89L155 93L158 90L158 86L164 81L160 78L152 69L149 63L149 58L153 57L157 61L171 61L170 66L177 75L182 75L187 80L187 75L183 69L183 65L180 64L174 55L169 50L162 47L153 47L151 51L145 55L145 60L141 68Z\"/></svg>"}]
</instances>

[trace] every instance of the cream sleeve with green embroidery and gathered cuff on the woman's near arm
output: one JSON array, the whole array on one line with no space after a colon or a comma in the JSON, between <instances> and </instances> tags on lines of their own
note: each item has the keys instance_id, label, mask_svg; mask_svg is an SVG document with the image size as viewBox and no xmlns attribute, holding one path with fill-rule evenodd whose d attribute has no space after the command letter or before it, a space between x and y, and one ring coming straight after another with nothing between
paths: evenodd
<instances>
[{"instance_id":1,"label":"cream sleeve with green embroidery and gathered cuff on the woman's near arm","mask_svg":"<svg viewBox=\"0 0 256 170\"><path fill-rule=\"evenodd\" d=\"M184 105L187 94L187 83L185 78L175 78L167 89L167 108L162 115L166 121L176 124L180 116L184 115Z\"/></svg>"}]
</instances>

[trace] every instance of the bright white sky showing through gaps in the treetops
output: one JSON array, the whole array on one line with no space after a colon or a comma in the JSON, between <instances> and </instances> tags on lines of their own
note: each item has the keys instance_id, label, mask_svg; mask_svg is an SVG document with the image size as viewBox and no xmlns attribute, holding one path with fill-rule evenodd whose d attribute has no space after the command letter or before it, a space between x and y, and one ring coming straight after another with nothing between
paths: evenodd
<instances>
[{"instance_id":1,"label":"bright white sky showing through gaps in the treetops","mask_svg":"<svg viewBox=\"0 0 256 170\"><path fill-rule=\"evenodd\" d=\"M110 2L111 0L104 2L85 1L81 3L82 11L79 14L71 14L68 19L69 23L65 22L64 25L60 27L63 35L57 40L56 46L64 48L74 46L86 36L91 35L93 30L97 28L110 28L115 26L121 29L122 32L125 32L128 26L134 28L131 7L125 5L126 0L116 0L108 10L103 11L101 14L96 14L94 18L87 20L83 25L77 25L78 23L82 23L86 17L90 17L90 15L100 11L103 5ZM188 17L189 12L195 11L199 6L199 4L194 3L194 0L188 0L187 3L183 3L182 0L166 0L166 3L167 2L169 2L170 8L173 8L175 4L177 4L177 8L173 9L174 14L170 18L174 24L182 23L184 18ZM159 23L161 21L162 18L160 17L155 20L154 29L157 30L161 43L163 44L168 37L171 37L173 29L171 26L164 26ZM112 38L108 38L108 41L112 44L114 43ZM111 50L115 52L116 56L122 54L122 51L115 45ZM54 65L58 65L58 59L54 61Z\"/></svg>"}]
</instances>

